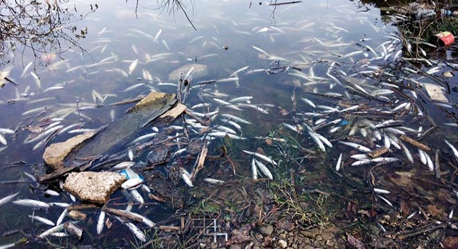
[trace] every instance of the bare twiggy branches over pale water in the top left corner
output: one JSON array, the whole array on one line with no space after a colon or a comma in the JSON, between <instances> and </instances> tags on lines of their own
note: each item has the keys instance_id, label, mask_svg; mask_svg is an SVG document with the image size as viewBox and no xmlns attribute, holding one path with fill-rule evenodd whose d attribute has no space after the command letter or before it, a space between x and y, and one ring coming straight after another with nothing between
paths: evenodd
<instances>
[{"instance_id":1,"label":"bare twiggy branches over pale water in the top left corner","mask_svg":"<svg viewBox=\"0 0 458 249\"><path fill-rule=\"evenodd\" d=\"M34 55L36 63L50 64L60 53L78 48L78 40L85 38L87 29L76 26L76 21L98 8L96 4L85 7L89 8L78 13L65 1L1 1L0 66L9 64L10 59L14 62L19 54L26 58Z\"/></svg>"}]
</instances>

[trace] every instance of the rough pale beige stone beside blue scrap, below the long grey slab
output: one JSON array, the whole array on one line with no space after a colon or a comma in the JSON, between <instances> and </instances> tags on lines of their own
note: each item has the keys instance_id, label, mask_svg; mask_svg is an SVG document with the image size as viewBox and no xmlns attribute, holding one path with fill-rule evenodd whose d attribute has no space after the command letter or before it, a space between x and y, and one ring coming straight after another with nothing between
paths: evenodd
<instances>
[{"instance_id":1,"label":"rough pale beige stone beside blue scrap, below the long grey slab","mask_svg":"<svg viewBox=\"0 0 458 249\"><path fill-rule=\"evenodd\" d=\"M126 176L115 172L72 172L64 183L64 190L81 201L105 204Z\"/></svg>"}]
</instances>

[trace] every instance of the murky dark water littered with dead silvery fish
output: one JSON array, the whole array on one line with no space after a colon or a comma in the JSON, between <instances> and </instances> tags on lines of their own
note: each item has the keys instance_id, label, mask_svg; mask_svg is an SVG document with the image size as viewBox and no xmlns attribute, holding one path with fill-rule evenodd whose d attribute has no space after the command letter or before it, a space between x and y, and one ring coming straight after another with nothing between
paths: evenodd
<instances>
[{"instance_id":1,"label":"murky dark water littered with dead silvery fish","mask_svg":"<svg viewBox=\"0 0 458 249\"><path fill-rule=\"evenodd\" d=\"M400 62L402 43L396 27L383 24L378 9L371 7L368 11L360 11L366 9L343 0L332 3L307 1L276 8L266 2L250 5L249 1L196 1L186 6L187 15L196 27L194 30L183 12L168 15L167 9L158 9L155 1L149 2L139 1L137 17L135 1L98 3L95 12L75 23L78 28L87 27L87 35L85 39L78 40L77 47L73 46L57 56L53 51L38 53L38 57L48 62L47 66L35 60L35 68L32 66L24 71L35 58L30 49L24 50L23 54L6 55L11 62L1 71L9 71L8 77L18 85L8 83L0 90L0 128L15 131L14 134L2 134L8 145L0 145L1 165L4 166L0 199L19 192L13 201L35 199L46 203L72 203L69 195L62 190L59 190L58 196L45 197L27 175L31 174L33 163L42 163L46 147L37 146L41 140L24 143L32 133L25 129L27 125L46 129L54 121L60 121L56 125L82 124L84 129L98 129L117 122L133 105L110 104L137 98L150 91L176 93L181 73L183 79L187 77L191 82L189 97L185 101L189 110L195 113L218 112L212 118L211 126L226 122L228 116L223 114L251 123L233 118L232 121L240 127L237 124L224 125L234 130L235 134L227 129L214 133L215 139L209 145L210 154L218 154L217 149L226 145L230 156L236 160L237 174L233 175L230 165L207 162L205 173L194 182L194 190L184 181L178 185L190 203L199 201L198 197L189 194L190 190L196 192L196 188L209 186L202 181L205 177L225 181L253 178L253 158L242 150L257 151L262 147L263 153L280 164L275 166L257 158L273 172L273 181L278 181L278 174L281 174L277 167L282 170L291 167L295 171L305 168L310 172L319 169L328 174L320 179L320 184L327 185L331 191L335 187L334 191L342 195L350 191L345 190L347 187L352 188L351 181L360 181L359 187L366 187L366 196L362 198L368 198L370 194L367 193L374 187L396 193L376 193L386 198L378 199L378 205L387 212L391 205L396 208L400 203L414 199L415 194L405 196L411 191L427 196L429 203L425 199L414 201L418 205L424 204L423 208L434 204L448 214L456 205L456 167L453 163L457 158L454 158L444 138L456 146L457 126L453 116L447 116L443 110L456 112L456 107L450 103L456 102L457 93L443 89L445 93L450 91L446 94L448 100L431 102L430 95L420 85L437 85L436 80L400 70L412 66ZM90 9L89 3L85 2L69 4L75 4L78 12ZM441 77L442 71L450 71L444 64L437 64L439 72L432 74ZM425 71L434 66L426 65ZM191 67L194 70L190 70ZM198 84L210 80L216 82ZM452 81L450 86L456 87L456 83ZM191 110L194 105L202 103L210 107ZM50 120L52 118L55 120ZM390 129L376 127L378 124L383 127L382 122L386 120L401 122L384 124L396 124ZM320 127L325 123L328 124ZM182 125L180 120L173 124ZM188 123L190 137L201 138L203 135L198 133L201 128L193 125ZM437 128L423 138L422 134L432 127ZM173 135L181 132L173 131ZM421 163L423 159L419 155L423 152L418 154L416 146L403 142L397 148L401 132L411 138L422 138L421 142L432 147L432 151L427 151L432 169L428 168L428 162ZM67 140L75 133L60 133L49 143ZM144 133L146 131L138 136ZM226 138L225 133L228 133ZM268 136L271 139L266 141L264 138ZM350 156L364 151L352 150L339 140L357 142L370 150L387 146L387 143L391 148L388 154L382 156L385 159L366 163L364 161L370 159L362 159L361 165L352 166L356 160ZM406 156L404 147L412 153L412 162ZM302 154L289 154L288 157L287 152L291 148L302 151ZM436 148L439 149L444 174L439 178L434 177L434 174L442 174L434 169ZM178 148L173 147L173 150ZM341 154L342 165L336 172L337 159ZM386 163L390 158L396 161ZM137 155L134 161L145 159L145 155ZM26 164L11 166L19 160ZM178 155L173 160L187 159L185 155ZM190 172L194 162L195 158L186 162L184 167ZM380 163L382 165L378 165ZM260 172L258 178L266 176ZM284 172L288 172L287 169ZM412 183L412 178L407 179L407 175L419 180ZM372 180L368 179L371 177ZM342 178L346 180L341 181ZM436 183L435 187L427 184L429 181ZM436 192L448 197L436 198ZM145 192L140 194L148 199ZM110 205L125 209L128 201L126 196L116 192ZM22 230L31 234L32 238L52 226L32 221L29 216L56 221L64 208L53 206L44 210L9 202L1 205L0 210L0 233ZM133 205L132 211L148 216L156 223L167 221L173 214L166 205L152 200L146 201L145 205ZM99 209L89 210L89 218L78 223L85 233L82 241L78 242L73 237L62 239L50 236L49 243L62 246L67 243L110 247L141 245L142 242L126 225L113 218L114 228L105 228L97 234L99 212ZM142 230L147 228L142 223L135 225ZM120 234L124 239L119 239ZM59 235L63 236L56 234ZM21 237L23 234L20 233L1 237L0 244L14 243Z\"/></svg>"}]
</instances>

